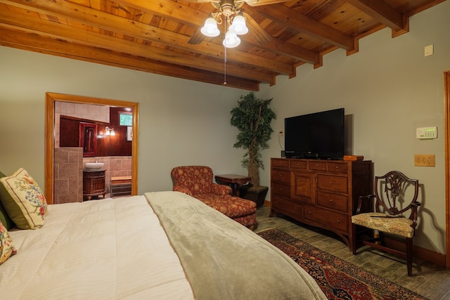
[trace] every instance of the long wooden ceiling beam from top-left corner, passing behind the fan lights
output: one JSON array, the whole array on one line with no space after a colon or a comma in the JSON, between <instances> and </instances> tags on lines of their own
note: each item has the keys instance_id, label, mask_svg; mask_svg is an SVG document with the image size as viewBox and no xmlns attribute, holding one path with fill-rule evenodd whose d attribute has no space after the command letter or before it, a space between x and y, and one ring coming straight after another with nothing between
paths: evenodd
<instances>
[{"instance_id":1,"label":"long wooden ceiling beam from top-left corner, passing behind the fan lights","mask_svg":"<svg viewBox=\"0 0 450 300\"><path fill-rule=\"evenodd\" d=\"M127 1L124 1L127 2ZM149 6L154 6L153 1L147 1ZM67 18L81 22L82 24L99 27L104 30L110 30L121 34L127 34L131 37L156 41L161 44L192 51L194 53L217 58L217 53L224 56L224 47L213 43L203 43L203 45L188 44L189 37L184 34L176 34L169 30L162 30L152 25L146 25L141 22L120 18L110 13L96 11L93 8L74 4L63 0L0 0L0 3L15 5L20 8L26 8L39 13L56 15L60 18ZM192 8L191 8L192 9ZM80 17L81 16L81 17ZM14 17L12 17L14 18ZM53 23L52 23L53 24ZM86 32L83 32L86 35ZM261 56L255 56L238 49L228 51L227 60L252 67L264 68L278 74L293 74L293 66L279 63L276 60L269 60Z\"/></svg>"}]
</instances>

